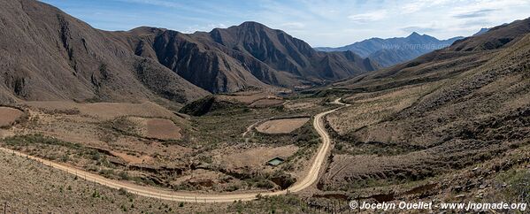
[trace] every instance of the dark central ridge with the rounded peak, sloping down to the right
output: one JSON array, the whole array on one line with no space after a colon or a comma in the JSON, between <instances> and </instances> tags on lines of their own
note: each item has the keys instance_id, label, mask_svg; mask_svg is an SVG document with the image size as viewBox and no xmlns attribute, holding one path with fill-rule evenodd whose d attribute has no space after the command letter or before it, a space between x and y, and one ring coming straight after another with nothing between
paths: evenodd
<instances>
[{"instance_id":1,"label":"dark central ridge with the rounded peak, sloping down to the right","mask_svg":"<svg viewBox=\"0 0 530 214\"><path fill-rule=\"evenodd\" d=\"M306 42L257 22L214 29L210 35L215 42L231 50L250 54L277 71L296 76L339 80L377 68L369 59L364 60L351 52L329 54L315 51ZM329 63L322 65L322 62Z\"/></svg>"}]
</instances>

